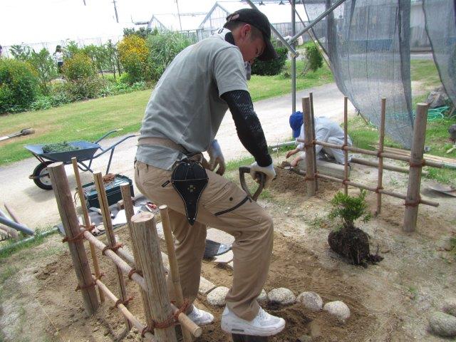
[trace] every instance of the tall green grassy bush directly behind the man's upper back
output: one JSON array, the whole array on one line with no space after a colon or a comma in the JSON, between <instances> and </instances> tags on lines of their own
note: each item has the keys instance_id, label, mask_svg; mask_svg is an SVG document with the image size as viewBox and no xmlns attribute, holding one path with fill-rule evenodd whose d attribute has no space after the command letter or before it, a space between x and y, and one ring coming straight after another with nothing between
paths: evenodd
<instances>
[{"instance_id":1,"label":"tall green grassy bush directly behind the man's upper back","mask_svg":"<svg viewBox=\"0 0 456 342\"><path fill-rule=\"evenodd\" d=\"M187 36L178 32L164 32L149 36L147 38L147 48L149 56L147 66L152 80L157 81L172 60L187 46L192 45L192 41Z\"/></svg>"}]
</instances>

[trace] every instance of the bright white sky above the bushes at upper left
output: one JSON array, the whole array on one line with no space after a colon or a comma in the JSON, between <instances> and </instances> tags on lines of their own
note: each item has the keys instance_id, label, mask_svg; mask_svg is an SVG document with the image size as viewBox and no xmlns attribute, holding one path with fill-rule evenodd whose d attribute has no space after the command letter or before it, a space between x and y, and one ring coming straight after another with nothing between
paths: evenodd
<instances>
[{"instance_id":1,"label":"bright white sky above the bushes at upper left","mask_svg":"<svg viewBox=\"0 0 456 342\"><path fill-rule=\"evenodd\" d=\"M133 21L177 13L176 0L0 0L0 45L122 36ZM215 0L178 0L180 13L207 12Z\"/></svg>"}]
</instances>

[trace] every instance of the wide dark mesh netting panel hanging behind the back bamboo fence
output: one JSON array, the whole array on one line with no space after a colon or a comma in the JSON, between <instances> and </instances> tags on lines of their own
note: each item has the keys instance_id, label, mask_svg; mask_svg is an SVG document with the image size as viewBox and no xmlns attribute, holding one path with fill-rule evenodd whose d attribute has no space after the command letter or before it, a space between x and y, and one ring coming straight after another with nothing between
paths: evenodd
<instances>
[{"instance_id":1,"label":"wide dark mesh netting panel hanging behind the back bamboo fence","mask_svg":"<svg viewBox=\"0 0 456 342\"><path fill-rule=\"evenodd\" d=\"M335 2L304 1L309 20ZM377 126L385 97L386 134L410 148L410 0L347 0L316 24L313 33L328 55L339 90Z\"/></svg>"}]
</instances>

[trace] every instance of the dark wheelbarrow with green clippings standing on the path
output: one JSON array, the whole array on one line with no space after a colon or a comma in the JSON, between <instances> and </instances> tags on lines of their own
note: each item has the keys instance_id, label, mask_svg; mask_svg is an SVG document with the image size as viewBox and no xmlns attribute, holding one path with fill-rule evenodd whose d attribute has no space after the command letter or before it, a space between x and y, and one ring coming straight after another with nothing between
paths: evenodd
<instances>
[{"instance_id":1,"label":"dark wheelbarrow with green clippings standing on the path","mask_svg":"<svg viewBox=\"0 0 456 342\"><path fill-rule=\"evenodd\" d=\"M43 152L43 146L46 144L37 144L37 145L26 145L25 148L31 152L33 157L36 157L40 162L38 166L35 167L33 173L28 176L35 184L43 190L51 190L51 178L49 177L48 165L53 162L63 162L63 164L71 164L71 158L76 157L78 160L78 168L82 171L90 171L93 173L93 170L90 168L94 159L104 155L106 152L110 152L108 167L106 167L106 172L109 172L111 165L111 160L113 159L113 153L115 147L120 143L124 142L129 138L133 138L136 135L128 135L125 138L115 142L115 144L110 147L102 147L98 142L108 137L108 135L118 132L119 130L111 130L106 133L100 139L95 142L89 142L85 140L76 140L68 142L69 145L78 148L77 150L71 150L66 152ZM98 154L97 154L98 151Z\"/></svg>"}]
</instances>

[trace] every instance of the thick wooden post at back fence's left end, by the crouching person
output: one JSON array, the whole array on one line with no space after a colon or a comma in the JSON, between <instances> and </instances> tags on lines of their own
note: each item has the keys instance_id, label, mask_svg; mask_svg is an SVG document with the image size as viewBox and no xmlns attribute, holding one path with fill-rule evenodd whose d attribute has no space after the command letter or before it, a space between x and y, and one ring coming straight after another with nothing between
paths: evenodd
<instances>
[{"instance_id":1,"label":"thick wooden post at back fence's left end, by the crouching person","mask_svg":"<svg viewBox=\"0 0 456 342\"><path fill-rule=\"evenodd\" d=\"M315 167L314 165L314 126L312 125L311 118L311 104L309 98L302 98L302 108L304 112L304 148L306 149L306 182L307 182L307 195L315 195Z\"/></svg>"}]
</instances>

